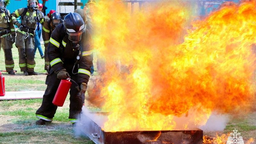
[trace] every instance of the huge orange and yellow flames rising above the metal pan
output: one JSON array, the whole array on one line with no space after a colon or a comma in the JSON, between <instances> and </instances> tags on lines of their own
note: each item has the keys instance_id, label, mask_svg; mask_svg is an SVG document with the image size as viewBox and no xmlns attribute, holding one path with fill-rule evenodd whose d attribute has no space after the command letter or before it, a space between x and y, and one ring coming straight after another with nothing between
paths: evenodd
<instances>
[{"instance_id":1,"label":"huge orange and yellow flames rising above the metal pan","mask_svg":"<svg viewBox=\"0 0 256 144\"><path fill-rule=\"evenodd\" d=\"M124 3L101 1L93 15L94 47L106 61L102 129L190 129L213 111L247 112L255 101L255 1L223 5L191 25L185 3L150 8L131 15Z\"/></svg>"}]
</instances>

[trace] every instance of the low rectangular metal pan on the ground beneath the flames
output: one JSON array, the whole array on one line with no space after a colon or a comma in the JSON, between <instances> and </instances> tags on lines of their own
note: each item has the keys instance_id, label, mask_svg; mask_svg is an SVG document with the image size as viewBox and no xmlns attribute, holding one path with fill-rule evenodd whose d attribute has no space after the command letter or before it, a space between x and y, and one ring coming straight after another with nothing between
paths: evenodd
<instances>
[{"instance_id":1,"label":"low rectangular metal pan on the ground beneath the flames","mask_svg":"<svg viewBox=\"0 0 256 144\"><path fill-rule=\"evenodd\" d=\"M97 115L97 113L95 113ZM101 113L102 114L102 113ZM82 133L96 144L202 144L203 131L122 131L105 132L89 117L83 116L78 124Z\"/></svg>"}]
</instances>

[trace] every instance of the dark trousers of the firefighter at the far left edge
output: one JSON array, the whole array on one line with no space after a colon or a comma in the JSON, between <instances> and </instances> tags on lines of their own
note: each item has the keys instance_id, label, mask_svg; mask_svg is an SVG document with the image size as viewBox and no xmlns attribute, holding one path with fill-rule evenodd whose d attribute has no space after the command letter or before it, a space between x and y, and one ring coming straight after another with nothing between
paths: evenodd
<instances>
[{"instance_id":1,"label":"dark trousers of the firefighter at the far left edge","mask_svg":"<svg viewBox=\"0 0 256 144\"><path fill-rule=\"evenodd\" d=\"M13 70L14 68L14 61L12 58L12 42L6 40L6 37L1 38L1 44L4 51L4 62L5 62L5 69L6 71ZM1 45L0 45L1 49Z\"/></svg>"}]
</instances>

